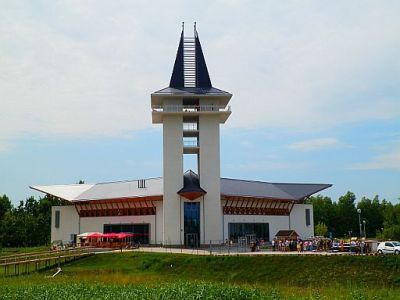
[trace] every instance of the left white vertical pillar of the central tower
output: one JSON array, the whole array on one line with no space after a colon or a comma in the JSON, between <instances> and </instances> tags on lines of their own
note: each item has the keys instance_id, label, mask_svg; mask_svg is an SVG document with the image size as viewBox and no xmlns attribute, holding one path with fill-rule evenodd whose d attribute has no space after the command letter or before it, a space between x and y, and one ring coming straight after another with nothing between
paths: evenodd
<instances>
[{"instance_id":1,"label":"left white vertical pillar of the central tower","mask_svg":"<svg viewBox=\"0 0 400 300\"><path fill-rule=\"evenodd\" d=\"M165 105L182 105L182 99L165 99ZM183 125L182 116L163 116L163 243L181 242L180 198L177 192L183 187Z\"/></svg>"}]
</instances>

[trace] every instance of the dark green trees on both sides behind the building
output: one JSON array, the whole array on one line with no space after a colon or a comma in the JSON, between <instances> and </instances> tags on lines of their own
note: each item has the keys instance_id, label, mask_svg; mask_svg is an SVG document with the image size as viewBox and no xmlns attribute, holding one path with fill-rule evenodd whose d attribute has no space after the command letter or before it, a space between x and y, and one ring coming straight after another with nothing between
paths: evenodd
<instances>
[{"instance_id":1,"label":"dark green trees on both sides behind the building","mask_svg":"<svg viewBox=\"0 0 400 300\"><path fill-rule=\"evenodd\" d=\"M336 202L318 195L310 197L307 203L314 207L316 235L359 236L360 216L361 222L365 220L367 237L400 240L400 203L380 200L378 196L373 199L363 197L356 202L352 192L347 192ZM51 207L61 204L58 198L47 195L39 199L29 197L14 206L6 195L0 196L0 247L49 244Z\"/></svg>"}]
</instances>

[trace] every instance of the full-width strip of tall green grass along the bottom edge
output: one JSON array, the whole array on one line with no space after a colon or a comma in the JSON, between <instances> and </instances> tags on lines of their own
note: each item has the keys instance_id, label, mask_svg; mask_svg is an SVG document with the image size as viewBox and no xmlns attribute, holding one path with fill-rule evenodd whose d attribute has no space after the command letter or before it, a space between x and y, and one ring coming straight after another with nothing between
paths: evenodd
<instances>
[{"instance_id":1,"label":"full-width strip of tall green grass along the bottom edge","mask_svg":"<svg viewBox=\"0 0 400 300\"><path fill-rule=\"evenodd\" d=\"M327 288L270 287L268 289L231 286L207 282L171 282L150 285L104 283L41 283L1 285L0 299L399 299L398 291Z\"/></svg>"}]
</instances>

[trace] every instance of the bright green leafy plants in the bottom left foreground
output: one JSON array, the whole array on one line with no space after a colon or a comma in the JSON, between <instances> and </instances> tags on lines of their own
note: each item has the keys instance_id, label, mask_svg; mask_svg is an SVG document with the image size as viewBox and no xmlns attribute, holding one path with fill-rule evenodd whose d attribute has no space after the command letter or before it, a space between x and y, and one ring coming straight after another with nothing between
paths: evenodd
<instances>
[{"instance_id":1,"label":"bright green leafy plants in the bottom left foreground","mask_svg":"<svg viewBox=\"0 0 400 300\"><path fill-rule=\"evenodd\" d=\"M0 299L266 299L258 289L210 283L167 285L44 284L2 286Z\"/></svg>"}]
</instances>

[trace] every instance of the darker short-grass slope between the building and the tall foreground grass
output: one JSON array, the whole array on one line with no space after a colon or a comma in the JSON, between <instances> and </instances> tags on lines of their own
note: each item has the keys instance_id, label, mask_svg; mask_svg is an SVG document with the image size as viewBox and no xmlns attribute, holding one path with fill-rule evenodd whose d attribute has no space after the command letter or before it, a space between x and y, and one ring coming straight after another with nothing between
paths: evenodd
<instances>
[{"instance_id":1,"label":"darker short-grass slope between the building and the tall foreground grass","mask_svg":"<svg viewBox=\"0 0 400 300\"><path fill-rule=\"evenodd\" d=\"M68 265L65 275L121 273L166 280L225 283L331 283L400 287L399 256L196 256L122 253L95 255Z\"/></svg>"}]
</instances>

